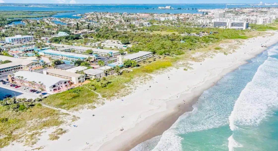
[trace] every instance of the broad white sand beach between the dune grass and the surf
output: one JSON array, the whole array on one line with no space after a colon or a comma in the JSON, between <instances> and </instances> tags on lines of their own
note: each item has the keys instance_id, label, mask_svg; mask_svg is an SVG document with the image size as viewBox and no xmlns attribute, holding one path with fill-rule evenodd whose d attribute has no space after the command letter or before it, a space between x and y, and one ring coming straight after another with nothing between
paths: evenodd
<instances>
[{"instance_id":1,"label":"broad white sand beach between the dune grass and the surf","mask_svg":"<svg viewBox=\"0 0 278 151\"><path fill-rule=\"evenodd\" d=\"M192 104L204 90L267 49L261 44L271 46L278 43L278 32L272 32L274 34L269 37L245 40L232 54L219 53L203 62L190 62L192 70L171 68L162 74L152 75L153 80L138 85L130 95L106 101L105 105L94 110L73 112L80 119L71 125L61 126L68 132L58 140L48 140L48 135L54 131L50 128L42 133L33 147L13 142L1 151L25 151L37 147L43 147L40 150L45 151L130 150L138 143L161 135L180 115L192 110Z\"/></svg>"}]
</instances>

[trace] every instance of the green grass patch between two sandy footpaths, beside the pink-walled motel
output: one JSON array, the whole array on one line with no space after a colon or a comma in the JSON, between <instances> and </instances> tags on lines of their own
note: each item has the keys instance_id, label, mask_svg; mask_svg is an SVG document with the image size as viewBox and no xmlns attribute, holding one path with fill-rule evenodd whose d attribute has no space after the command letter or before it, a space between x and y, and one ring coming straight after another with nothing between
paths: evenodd
<instances>
[{"instance_id":1,"label":"green grass patch between two sandy footpaths, beside the pink-walled motel","mask_svg":"<svg viewBox=\"0 0 278 151\"><path fill-rule=\"evenodd\" d=\"M79 86L68 91L49 95L42 100L42 103L53 107L69 110L87 103L96 102L98 95L84 86Z\"/></svg>"}]
</instances>

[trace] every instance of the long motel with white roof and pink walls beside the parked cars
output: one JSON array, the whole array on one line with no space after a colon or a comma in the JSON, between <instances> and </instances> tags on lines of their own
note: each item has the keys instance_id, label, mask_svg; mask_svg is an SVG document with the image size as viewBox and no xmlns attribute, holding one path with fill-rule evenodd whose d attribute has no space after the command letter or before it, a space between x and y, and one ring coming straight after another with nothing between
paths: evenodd
<instances>
[{"instance_id":1,"label":"long motel with white roof and pink walls beside the parked cars","mask_svg":"<svg viewBox=\"0 0 278 151\"><path fill-rule=\"evenodd\" d=\"M30 71L18 71L13 76L8 76L8 79L10 82L38 88L49 94L54 94L70 86L70 80Z\"/></svg>"}]
</instances>

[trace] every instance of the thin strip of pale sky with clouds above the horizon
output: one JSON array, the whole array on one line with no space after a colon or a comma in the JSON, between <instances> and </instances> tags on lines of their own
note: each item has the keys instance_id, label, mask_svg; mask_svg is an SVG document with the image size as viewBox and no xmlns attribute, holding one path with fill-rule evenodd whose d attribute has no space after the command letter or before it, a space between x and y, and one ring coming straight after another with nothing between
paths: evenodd
<instances>
[{"instance_id":1,"label":"thin strip of pale sky with clouds above the horizon","mask_svg":"<svg viewBox=\"0 0 278 151\"><path fill-rule=\"evenodd\" d=\"M262 1L275 3L277 0ZM260 3L255 0L0 0L0 3L59 3L59 4L189 4L189 3Z\"/></svg>"}]
</instances>

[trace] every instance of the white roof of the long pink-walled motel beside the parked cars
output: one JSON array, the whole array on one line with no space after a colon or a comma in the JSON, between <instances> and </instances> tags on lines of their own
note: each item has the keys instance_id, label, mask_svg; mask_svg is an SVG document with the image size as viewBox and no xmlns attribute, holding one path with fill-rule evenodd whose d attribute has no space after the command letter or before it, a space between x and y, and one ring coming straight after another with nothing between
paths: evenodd
<instances>
[{"instance_id":1,"label":"white roof of the long pink-walled motel beside the parked cars","mask_svg":"<svg viewBox=\"0 0 278 151\"><path fill-rule=\"evenodd\" d=\"M23 76L24 79L26 78L26 81L35 81L35 83L38 84L39 82L41 82L46 87L50 87L59 81L69 81L67 79L59 78L56 76L44 75L41 73L30 71L17 71L16 73L14 73L14 77L16 78L17 76Z\"/></svg>"}]
</instances>

